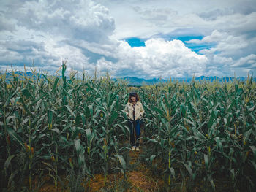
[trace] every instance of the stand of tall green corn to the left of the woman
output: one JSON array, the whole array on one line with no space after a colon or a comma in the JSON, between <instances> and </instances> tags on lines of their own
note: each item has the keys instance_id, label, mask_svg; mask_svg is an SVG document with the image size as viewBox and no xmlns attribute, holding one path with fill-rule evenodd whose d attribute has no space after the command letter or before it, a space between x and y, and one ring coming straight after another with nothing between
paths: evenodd
<instances>
[{"instance_id":1,"label":"stand of tall green corn to the left of the woman","mask_svg":"<svg viewBox=\"0 0 256 192\"><path fill-rule=\"evenodd\" d=\"M1 188L36 190L35 178L50 177L56 190L61 175L86 178L126 169L118 144L126 135L121 112L124 86L109 77L90 80L34 72L34 77L0 80ZM111 166L110 166L111 165ZM121 167L121 168L120 168ZM72 172L73 174L69 174ZM80 183L70 183L78 189ZM21 189L20 189L21 190Z\"/></svg>"}]
</instances>

